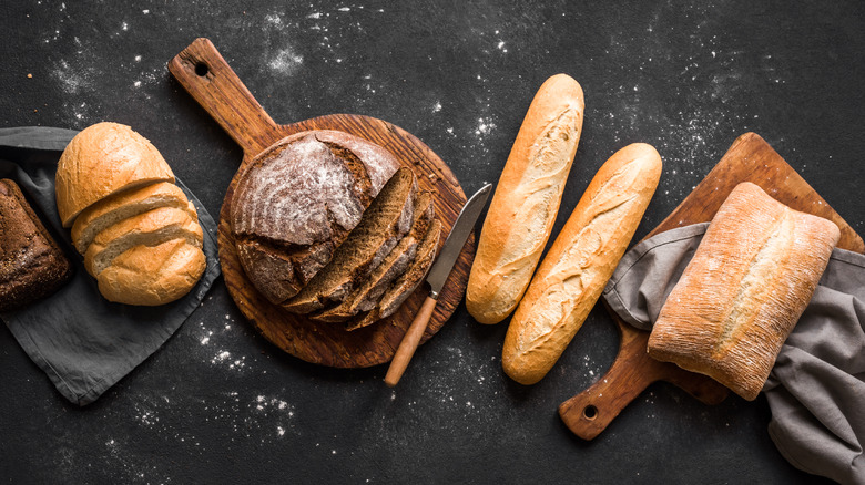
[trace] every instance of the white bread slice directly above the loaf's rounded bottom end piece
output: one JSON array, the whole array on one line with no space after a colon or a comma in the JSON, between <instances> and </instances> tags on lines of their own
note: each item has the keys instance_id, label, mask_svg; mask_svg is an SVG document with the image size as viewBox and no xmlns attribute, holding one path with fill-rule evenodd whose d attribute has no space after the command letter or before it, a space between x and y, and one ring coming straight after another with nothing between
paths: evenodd
<instances>
[{"instance_id":1,"label":"white bread slice directly above the loaf's rounded bottom end piece","mask_svg":"<svg viewBox=\"0 0 865 485\"><path fill-rule=\"evenodd\" d=\"M201 248L204 235L197 218L190 216L191 211L191 208L160 207L109 226L90 244L84 255L84 267L95 277L121 252L133 246L156 246L176 238Z\"/></svg>"}]
</instances>

